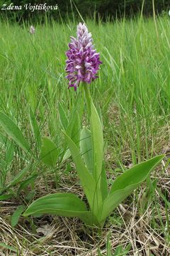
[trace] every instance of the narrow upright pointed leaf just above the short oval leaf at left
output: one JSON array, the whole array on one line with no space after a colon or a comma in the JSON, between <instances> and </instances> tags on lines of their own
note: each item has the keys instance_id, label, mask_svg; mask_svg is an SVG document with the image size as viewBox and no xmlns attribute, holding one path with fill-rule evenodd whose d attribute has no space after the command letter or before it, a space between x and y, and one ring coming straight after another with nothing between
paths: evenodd
<instances>
[{"instance_id":1,"label":"narrow upright pointed leaf just above the short oval leaf at left","mask_svg":"<svg viewBox=\"0 0 170 256\"><path fill-rule=\"evenodd\" d=\"M40 145L41 145L40 129L38 127L38 122L35 119L35 115L33 114L33 110L31 109L31 107L30 107L30 111L29 111L29 117L30 117L30 125L33 130L35 140L37 142L37 146L38 146L38 148L40 148Z\"/></svg>"}]
</instances>

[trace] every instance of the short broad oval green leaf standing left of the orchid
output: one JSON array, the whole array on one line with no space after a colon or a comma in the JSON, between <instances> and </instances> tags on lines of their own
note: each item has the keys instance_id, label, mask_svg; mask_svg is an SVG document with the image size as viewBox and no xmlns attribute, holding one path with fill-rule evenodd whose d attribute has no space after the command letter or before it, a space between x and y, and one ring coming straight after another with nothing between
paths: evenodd
<instances>
[{"instance_id":1,"label":"short broad oval green leaf standing left of the orchid","mask_svg":"<svg viewBox=\"0 0 170 256\"><path fill-rule=\"evenodd\" d=\"M41 160L47 166L55 167L58 159L58 149L54 142L49 138L42 138Z\"/></svg>"}]
</instances>

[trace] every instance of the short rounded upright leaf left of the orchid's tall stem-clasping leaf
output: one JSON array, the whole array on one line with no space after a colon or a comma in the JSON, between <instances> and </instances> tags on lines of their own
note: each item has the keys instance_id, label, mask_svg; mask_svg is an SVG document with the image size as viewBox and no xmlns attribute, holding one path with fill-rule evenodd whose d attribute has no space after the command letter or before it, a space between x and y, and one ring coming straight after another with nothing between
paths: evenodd
<instances>
[{"instance_id":1,"label":"short rounded upright leaf left of the orchid's tall stem-clasping leaf","mask_svg":"<svg viewBox=\"0 0 170 256\"><path fill-rule=\"evenodd\" d=\"M86 168L91 174L94 174L94 160L92 154L92 146L91 146L91 132L86 127L81 129L80 134L80 151L81 155L84 158L84 163L86 164Z\"/></svg>"}]
</instances>

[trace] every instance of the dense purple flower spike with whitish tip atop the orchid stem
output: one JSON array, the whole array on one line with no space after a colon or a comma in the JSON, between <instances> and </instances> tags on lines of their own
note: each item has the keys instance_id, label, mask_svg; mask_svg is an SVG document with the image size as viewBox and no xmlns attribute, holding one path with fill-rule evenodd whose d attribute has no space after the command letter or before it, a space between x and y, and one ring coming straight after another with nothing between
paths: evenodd
<instances>
[{"instance_id":1,"label":"dense purple flower spike with whitish tip atop the orchid stem","mask_svg":"<svg viewBox=\"0 0 170 256\"><path fill-rule=\"evenodd\" d=\"M69 50L67 50L66 72L69 87L77 90L79 82L91 83L98 78L96 73L102 63L99 53L93 46L93 39L85 24L77 26L77 38L71 36Z\"/></svg>"}]
</instances>

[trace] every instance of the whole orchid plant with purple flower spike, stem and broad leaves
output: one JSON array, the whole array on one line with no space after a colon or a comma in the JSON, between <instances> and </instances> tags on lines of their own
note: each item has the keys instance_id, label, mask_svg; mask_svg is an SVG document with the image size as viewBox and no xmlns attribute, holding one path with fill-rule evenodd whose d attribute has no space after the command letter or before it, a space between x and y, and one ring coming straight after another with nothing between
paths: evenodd
<instances>
[{"instance_id":1,"label":"whole orchid plant with purple flower spike, stem and broad leaves","mask_svg":"<svg viewBox=\"0 0 170 256\"><path fill-rule=\"evenodd\" d=\"M86 225L102 228L106 218L140 183L145 181L164 156L156 156L133 166L118 176L111 188L108 188L106 169L103 164L102 124L89 90L89 84L97 78L101 60L85 24L79 23L77 38L71 37L66 55L69 87L77 90L77 87L82 84L90 115L91 130L86 127L81 129L79 145L73 141L67 130L64 130L63 134L89 204L86 205L73 193L53 193L31 203L23 215L50 213L78 217Z\"/></svg>"}]
</instances>

